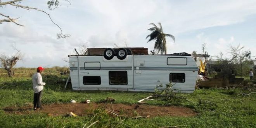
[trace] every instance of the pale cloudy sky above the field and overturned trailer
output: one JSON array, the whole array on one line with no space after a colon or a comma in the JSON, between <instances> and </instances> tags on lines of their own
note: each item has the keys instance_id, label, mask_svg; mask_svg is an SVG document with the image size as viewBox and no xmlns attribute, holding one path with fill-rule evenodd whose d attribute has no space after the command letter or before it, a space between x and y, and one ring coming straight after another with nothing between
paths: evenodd
<instances>
[{"instance_id":1,"label":"pale cloudy sky above the field and overturned trailer","mask_svg":"<svg viewBox=\"0 0 256 128\"><path fill-rule=\"evenodd\" d=\"M47 1L24 0L21 5L45 10L71 37L58 40L59 29L42 12L0 8L24 25L0 24L0 53L14 54L14 45L23 54L16 67L69 66L62 59L86 42L88 48L125 47L126 42L152 50L154 42L145 39L151 22L161 22L164 33L175 36L175 43L166 38L168 54L202 53L206 43L209 55L223 52L228 57L228 45L240 44L256 58L256 0L70 0L71 5L60 0L55 10L48 9Z\"/></svg>"}]
</instances>

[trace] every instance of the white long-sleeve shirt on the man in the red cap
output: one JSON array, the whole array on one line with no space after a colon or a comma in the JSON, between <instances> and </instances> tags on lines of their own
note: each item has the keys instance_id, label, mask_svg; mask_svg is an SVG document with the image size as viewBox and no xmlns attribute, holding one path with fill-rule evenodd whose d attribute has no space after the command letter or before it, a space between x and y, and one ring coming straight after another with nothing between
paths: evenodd
<instances>
[{"instance_id":1,"label":"white long-sleeve shirt on the man in the red cap","mask_svg":"<svg viewBox=\"0 0 256 128\"><path fill-rule=\"evenodd\" d=\"M38 93L43 90L43 85L45 83L43 82L43 78L40 73L33 74L32 77L32 83L33 83L33 89L35 93Z\"/></svg>"}]
</instances>

